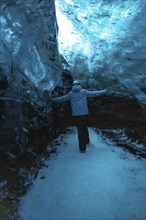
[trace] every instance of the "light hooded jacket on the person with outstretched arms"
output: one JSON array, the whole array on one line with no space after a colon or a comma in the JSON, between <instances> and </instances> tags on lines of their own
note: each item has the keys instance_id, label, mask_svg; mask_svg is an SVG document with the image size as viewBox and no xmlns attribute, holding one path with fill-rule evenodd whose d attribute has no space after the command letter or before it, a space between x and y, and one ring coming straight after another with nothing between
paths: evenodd
<instances>
[{"instance_id":1,"label":"light hooded jacket on the person with outstretched arms","mask_svg":"<svg viewBox=\"0 0 146 220\"><path fill-rule=\"evenodd\" d=\"M89 114L87 98L99 96L106 93L106 89L99 91L88 91L82 89L80 85L74 85L72 90L64 96L52 99L54 102L70 101L73 116Z\"/></svg>"}]
</instances>

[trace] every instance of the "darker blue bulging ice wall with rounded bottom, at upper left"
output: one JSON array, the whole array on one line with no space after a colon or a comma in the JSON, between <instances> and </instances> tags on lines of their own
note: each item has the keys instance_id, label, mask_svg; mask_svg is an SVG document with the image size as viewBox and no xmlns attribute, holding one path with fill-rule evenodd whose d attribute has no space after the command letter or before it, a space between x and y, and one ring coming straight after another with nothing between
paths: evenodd
<instances>
[{"instance_id":1,"label":"darker blue bulging ice wall with rounded bottom, at upper left","mask_svg":"<svg viewBox=\"0 0 146 220\"><path fill-rule=\"evenodd\" d=\"M2 1L0 25L1 68L11 86L54 87L61 75L54 0Z\"/></svg>"}]
</instances>

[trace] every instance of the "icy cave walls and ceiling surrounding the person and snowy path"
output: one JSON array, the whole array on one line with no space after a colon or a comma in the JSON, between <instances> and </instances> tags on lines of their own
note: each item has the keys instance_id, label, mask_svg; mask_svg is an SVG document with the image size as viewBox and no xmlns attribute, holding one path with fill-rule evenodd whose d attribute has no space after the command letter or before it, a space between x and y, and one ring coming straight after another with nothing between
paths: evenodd
<instances>
[{"instance_id":1,"label":"icy cave walls and ceiling surrounding the person and snowy path","mask_svg":"<svg viewBox=\"0 0 146 220\"><path fill-rule=\"evenodd\" d=\"M108 144L145 160L146 1L1 0L0 10L0 219L14 220L32 176L46 155L58 152L57 138L74 132L70 103L52 102L74 80L86 90L107 91L88 100L93 139L95 129ZM72 220L143 220L128 211L114 218L90 214ZM67 213L56 216L71 220ZM44 219L53 220L37 218Z\"/></svg>"}]
</instances>

